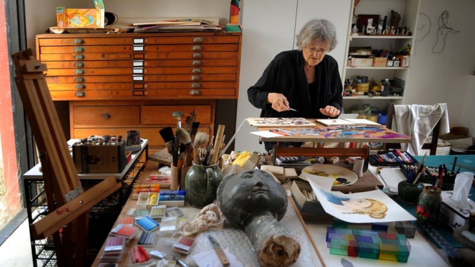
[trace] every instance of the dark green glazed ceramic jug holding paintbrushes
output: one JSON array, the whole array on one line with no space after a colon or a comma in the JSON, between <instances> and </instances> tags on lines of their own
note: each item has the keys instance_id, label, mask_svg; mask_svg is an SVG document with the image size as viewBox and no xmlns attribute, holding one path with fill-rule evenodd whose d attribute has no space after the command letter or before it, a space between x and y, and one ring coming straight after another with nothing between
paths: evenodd
<instances>
[{"instance_id":1,"label":"dark green glazed ceramic jug holding paintbrushes","mask_svg":"<svg viewBox=\"0 0 475 267\"><path fill-rule=\"evenodd\" d=\"M186 200L190 206L201 209L213 202L222 180L223 173L218 164L204 166L193 163L185 177Z\"/></svg>"}]
</instances>

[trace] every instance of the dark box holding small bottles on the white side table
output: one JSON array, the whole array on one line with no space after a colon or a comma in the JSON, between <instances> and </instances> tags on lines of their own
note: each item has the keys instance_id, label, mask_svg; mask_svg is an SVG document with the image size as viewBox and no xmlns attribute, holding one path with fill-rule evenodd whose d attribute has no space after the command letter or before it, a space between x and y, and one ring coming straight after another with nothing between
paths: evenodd
<instances>
[{"instance_id":1,"label":"dark box holding small bottles on the white side table","mask_svg":"<svg viewBox=\"0 0 475 267\"><path fill-rule=\"evenodd\" d=\"M73 145L77 173L119 173L127 165L122 145Z\"/></svg>"}]
</instances>

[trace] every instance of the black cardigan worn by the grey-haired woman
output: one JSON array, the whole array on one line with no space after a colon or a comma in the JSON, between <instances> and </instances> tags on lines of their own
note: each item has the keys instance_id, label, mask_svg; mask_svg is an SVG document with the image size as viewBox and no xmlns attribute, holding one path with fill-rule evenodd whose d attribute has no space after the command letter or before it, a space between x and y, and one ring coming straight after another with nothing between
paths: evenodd
<instances>
[{"instance_id":1,"label":"black cardigan worn by the grey-haired woman","mask_svg":"<svg viewBox=\"0 0 475 267\"><path fill-rule=\"evenodd\" d=\"M315 66L315 82L310 94L304 71L304 55L301 50L279 53L266 67L256 85L247 89L249 102L261 108L261 117L304 117L327 118L319 109L332 105L342 110L342 80L336 60L325 55ZM272 104L267 104L269 93L280 93L287 97L291 108L298 110L277 112ZM314 99L311 99L313 96ZM316 99L315 99L316 98Z\"/></svg>"}]
</instances>

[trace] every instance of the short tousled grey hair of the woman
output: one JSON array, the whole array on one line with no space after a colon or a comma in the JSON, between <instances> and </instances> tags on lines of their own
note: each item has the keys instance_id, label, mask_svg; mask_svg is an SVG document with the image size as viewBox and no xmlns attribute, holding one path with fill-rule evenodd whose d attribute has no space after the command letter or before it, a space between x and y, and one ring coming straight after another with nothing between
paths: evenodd
<instances>
[{"instance_id":1,"label":"short tousled grey hair of the woman","mask_svg":"<svg viewBox=\"0 0 475 267\"><path fill-rule=\"evenodd\" d=\"M302 50L314 42L328 42L330 51L336 46L336 30L332 22L326 19L312 19L305 23L297 37L297 48Z\"/></svg>"}]
</instances>

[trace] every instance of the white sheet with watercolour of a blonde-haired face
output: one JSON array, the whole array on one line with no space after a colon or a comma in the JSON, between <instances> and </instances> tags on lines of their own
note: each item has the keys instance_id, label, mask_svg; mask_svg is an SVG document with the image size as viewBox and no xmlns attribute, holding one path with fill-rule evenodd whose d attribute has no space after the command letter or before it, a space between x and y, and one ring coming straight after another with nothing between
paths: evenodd
<instances>
[{"instance_id":1,"label":"white sheet with watercolour of a blonde-haired face","mask_svg":"<svg viewBox=\"0 0 475 267\"><path fill-rule=\"evenodd\" d=\"M380 190L336 195L309 181L326 213L351 223L415 220Z\"/></svg>"}]
</instances>

